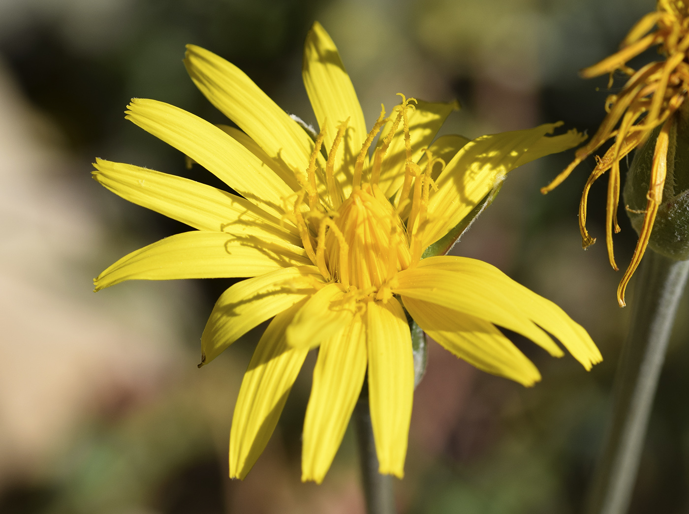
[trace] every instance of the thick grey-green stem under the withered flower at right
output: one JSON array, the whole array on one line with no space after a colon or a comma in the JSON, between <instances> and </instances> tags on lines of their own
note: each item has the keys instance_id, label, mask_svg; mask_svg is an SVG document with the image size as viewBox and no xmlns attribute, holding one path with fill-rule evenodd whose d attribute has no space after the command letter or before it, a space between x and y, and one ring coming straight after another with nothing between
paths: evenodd
<instances>
[{"instance_id":1,"label":"thick grey-green stem under the withered flower at right","mask_svg":"<svg viewBox=\"0 0 689 514\"><path fill-rule=\"evenodd\" d=\"M613 413L588 498L589 514L628 511L660 371L686 284L689 260L647 251L632 325L613 385Z\"/></svg>"}]
</instances>

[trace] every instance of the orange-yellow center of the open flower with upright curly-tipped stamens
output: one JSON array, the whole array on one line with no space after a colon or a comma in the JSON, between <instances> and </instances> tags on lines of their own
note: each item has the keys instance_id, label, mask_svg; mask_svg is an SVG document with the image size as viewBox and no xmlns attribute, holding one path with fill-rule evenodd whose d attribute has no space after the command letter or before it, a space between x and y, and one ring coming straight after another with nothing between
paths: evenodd
<instances>
[{"instance_id":1,"label":"orange-yellow center of the open flower with upright curly-tipped stamens","mask_svg":"<svg viewBox=\"0 0 689 514\"><path fill-rule=\"evenodd\" d=\"M441 159L433 159L427 150L425 171L412 162L407 110L413 109L409 101L415 99L400 96L402 103L393 111L395 118L385 118L382 110L364 141L351 170L351 193L347 198L336 180L342 170L336 170L334 163L348 120L338 127L325 173L320 170L320 174L317 161L325 132L318 134L306 176L300 178L303 188L296 194L294 209L286 215L296 225L309 259L325 280L336 280L345 290L356 289L364 296L376 294L383 301L391 296L389 282L395 274L421 258L429 188L435 187L431 171L435 163L442 163ZM367 167L373 138L388 121L390 128L381 136ZM399 201L393 205L378 187L378 181L383 158L395 137L404 138L406 159L404 169L398 170L404 176L404 184L398 194ZM325 185L325 194L319 193L317 177Z\"/></svg>"}]
</instances>

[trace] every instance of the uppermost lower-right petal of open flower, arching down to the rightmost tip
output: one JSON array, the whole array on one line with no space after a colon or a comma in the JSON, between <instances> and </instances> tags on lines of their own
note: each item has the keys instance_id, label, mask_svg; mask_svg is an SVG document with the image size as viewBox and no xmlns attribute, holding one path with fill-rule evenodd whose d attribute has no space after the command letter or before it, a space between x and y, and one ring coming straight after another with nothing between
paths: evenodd
<instances>
[{"instance_id":1,"label":"uppermost lower-right petal of open flower, arching down to the rightmost tip","mask_svg":"<svg viewBox=\"0 0 689 514\"><path fill-rule=\"evenodd\" d=\"M511 298L513 305L517 306L524 316L552 333L586 369L603 360L599 349L584 327L567 316L567 313L551 300L546 300L528 287L515 282L500 269L481 260L455 256L427 258L419 263L419 268L451 271L462 276L470 273L482 280L484 287L495 287Z\"/></svg>"}]
</instances>

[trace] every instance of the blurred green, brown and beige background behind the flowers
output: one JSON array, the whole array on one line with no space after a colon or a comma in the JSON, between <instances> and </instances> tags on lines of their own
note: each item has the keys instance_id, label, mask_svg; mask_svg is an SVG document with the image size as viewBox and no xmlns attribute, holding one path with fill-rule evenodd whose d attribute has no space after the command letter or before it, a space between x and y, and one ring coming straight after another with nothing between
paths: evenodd
<instances>
[{"instance_id":1,"label":"blurred green, brown and beige background behind the flowers","mask_svg":"<svg viewBox=\"0 0 689 514\"><path fill-rule=\"evenodd\" d=\"M368 123L395 93L458 99L444 133L562 120L591 134L606 79L577 70L617 48L651 0L2 0L0 1L0 513L363 513L353 433L321 486L301 484L300 432L314 356L265 453L227 479L227 440L259 332L196 369L205 319L229 280L91 279L182 225L90 179L99 156L210 182L123 119L132 96L214 123L184 45L240 66L285 110L314 121L302 42L320 21L340 49ZM641 56L639 62L653 58ZM616 83L619 87L621 81ZM517 169L455 247L582 323L605 361L586 373L515 342L543 380L524 389L431 343L415 393L400 513L577 513L606 423L630 309L619 309L604 245L584 253L577 205L593 159L548 196L573 152ZM605 183L590 232L604 231ZM617 261L636 236L620 214ZM628 298L633 302L634 291ZM671 342L632 513L689 508L687 301Z\"/></svg>"}]
</instances>

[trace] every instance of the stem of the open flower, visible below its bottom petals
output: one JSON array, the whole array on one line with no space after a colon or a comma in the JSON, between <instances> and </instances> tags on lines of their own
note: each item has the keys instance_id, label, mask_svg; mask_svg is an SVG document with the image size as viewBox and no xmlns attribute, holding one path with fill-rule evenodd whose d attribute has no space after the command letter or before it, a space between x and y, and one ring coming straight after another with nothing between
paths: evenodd
<instances>
[{"instance_id":1,"label":"stem of the open flower, visible below its bottom petals","mask_svg":"<svg viewBox=\"0 0 689 514\"><path fill-rule=\"evenodd\" d=\"M368 514L394 514L392 476L378 473L376 441L373 440L371 411L369 409L369 388L366 382L354 409L356 418L356 438L359 445L361 477L364 483L366 511Z\"/></svg>"}]
</instances>

